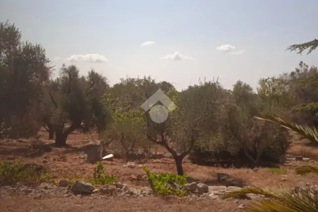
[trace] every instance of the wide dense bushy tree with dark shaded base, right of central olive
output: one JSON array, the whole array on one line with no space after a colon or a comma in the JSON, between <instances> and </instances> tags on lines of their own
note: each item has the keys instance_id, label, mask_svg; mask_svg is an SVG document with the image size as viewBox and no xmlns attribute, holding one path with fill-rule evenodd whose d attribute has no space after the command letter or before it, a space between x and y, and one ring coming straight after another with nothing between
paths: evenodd
<instances>
[{"instance_id":1,"label":"wide dense bushy tree with dark shaded base, right of central olive","mask_svg":"<svg viewBox=\"0 0 318 212\"><path fill-rule=\"evenodd\" d=\"M232 160L236 166L261 165L278 162L289 148L287 129L254 118L280 109L261 99L248 85L238 81L220 107L219 129L195 144L190 154L192 162L231 163Z\"/></svg>"}]
</instances>

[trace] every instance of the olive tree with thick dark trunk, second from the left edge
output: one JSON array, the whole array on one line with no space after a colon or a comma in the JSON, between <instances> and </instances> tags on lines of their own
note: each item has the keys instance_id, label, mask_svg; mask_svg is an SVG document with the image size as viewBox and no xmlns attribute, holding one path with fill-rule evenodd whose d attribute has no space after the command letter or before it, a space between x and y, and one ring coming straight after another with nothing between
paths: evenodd
<instances>
[{"instance_id":1,"label":"olive tree with thick dark trunk, second from the left edge","mask_svg":"<svg viewBox=\"0 0 318 212\"><path fill-rule=\"evenodd\" d=\"M66 145L67 137L75 130L104 128L107 111L101 105L101 96L107 87L106 78L93 70L84 77L75 65L62 66L59 77L48 86L44 118L45 124L54 129L58 146Z\"/></svg>"}]
</instances>

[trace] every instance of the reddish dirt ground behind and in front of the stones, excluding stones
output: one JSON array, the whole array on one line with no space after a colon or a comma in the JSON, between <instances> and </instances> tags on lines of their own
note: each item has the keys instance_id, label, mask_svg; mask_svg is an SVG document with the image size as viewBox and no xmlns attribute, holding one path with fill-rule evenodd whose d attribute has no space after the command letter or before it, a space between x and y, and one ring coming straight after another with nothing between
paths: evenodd
<instances>
[{"instance_id":1,"label":"reddish dirt ground behind and in front of the stones, excluding stones","mask_svg":"<svg viewBox=\"0 0 318 212\"><path fill-rule=\"evenodd\" d=\"M53 145L47 145L52 141L46 141L48 135L46 132L41 133L41 141L29 140L2 140L0 141L0 159L14 160L21 158L23 162L32 162L42 164L48 167L53 174L54 179L68 179L75 174L80 178L91 177L94 164L82 162L81 151L83 147L93 144L95 141L94 135L82 135L73 133L68 138L68 148L56 148ZM43 145L46 144L46 145ZM165 150L159 148L160 152ZM289 154L303 155L310 157L313 160L318 159L318 150L305 147L301 144L295 144L288 151ZM103 161L108 173L117 175L119 180L130 186L141 187L147 186L147 178L145 172L136 166L136 168L124 168L125 162L121 159L114 161ZM208 185L218 185L216 181L216 173L228 173L234 178L239 179L244 185L253 185L263 188L291 188L293 186L310 183L316 184L317 177L309 174L307 176L298 176L294 173L295 166L304 164L305 162L292 162L282 166L285 170L284 175L272 173L268 168L259 168L258 171L253 171L248 168L217 168L192 164L185 160L183 163L184 171L190 178L196 182L203 182ZM311 162L315 164L315 162ZM152 172L176 172L174 161L170 158L153 159L142 164L147 165ZM282 180L284 178L284 180ZM34 200L28 197L16 196L0 196L0 211L3 212L98 212L111 209L113 212L194 212L194 211L209 211L209 212L232 212L236 211L241 202L232 201L216 201L208 199L198 199L189 202L180 198L159 198L159 197L144 197L144 198L122 198L113 197L107 199L94 198L44 198Z\"/></svg>"}]
</instances>

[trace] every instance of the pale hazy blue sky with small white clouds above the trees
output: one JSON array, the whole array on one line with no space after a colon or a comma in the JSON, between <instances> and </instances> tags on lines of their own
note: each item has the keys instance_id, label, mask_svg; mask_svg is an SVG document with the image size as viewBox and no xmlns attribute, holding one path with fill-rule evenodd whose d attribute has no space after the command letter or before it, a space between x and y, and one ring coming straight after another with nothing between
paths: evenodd
<instances>
[{"instance_id":1,"label":"pale hazy blue sky with small white clouds above the trees","mask_svg":"<svg viewBox=\"0 0 318 212\"><path fill-rule=\"evenodd\" d=\"M151 75L178 89L206 77L225 88L241 80L318 65L317 51L291 44L318 35L317 0L0 0L0 21L41 44L56 66L75 64L110 84Z\"/></svg>"}]
</instances>

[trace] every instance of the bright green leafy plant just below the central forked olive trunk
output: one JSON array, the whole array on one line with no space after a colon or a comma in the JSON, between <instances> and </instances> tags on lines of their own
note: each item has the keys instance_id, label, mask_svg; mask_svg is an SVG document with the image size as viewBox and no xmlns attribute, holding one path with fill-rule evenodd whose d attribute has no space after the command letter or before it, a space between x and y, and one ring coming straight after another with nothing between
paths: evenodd
<instances>
[{"instance_id":1,"label":"bright green leafy plant just below the central forked olive trunk","mask_svg":"<svg viewBox=\"0 0 318 212\"><path fill-rule=\"evenodd\" d=\"M171 173L153 174L146 166L143 166L143 169L147 173L150 186L156 194L175 195L178 197L186 195L185 190L182 190L180 188L173 188L167 185L170 182L170 183L175 183L178 186L185 186L186 179L187 179L186 174L183 174L183 175L176 175Z\"/></svg>"}]
</instances>

